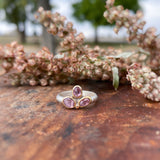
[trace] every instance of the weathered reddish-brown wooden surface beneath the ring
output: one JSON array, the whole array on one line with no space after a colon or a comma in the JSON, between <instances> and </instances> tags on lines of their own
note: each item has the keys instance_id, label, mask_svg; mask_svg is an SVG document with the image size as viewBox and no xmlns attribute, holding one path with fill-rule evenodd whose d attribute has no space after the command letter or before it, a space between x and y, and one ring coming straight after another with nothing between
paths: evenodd
<instances>
[{"instance_id":1,"label":"weathered reddish-brown wooden surface beneath the ring","mask_svg":"<svg viewBox=\"0 0 160 160\"><path fill-rule=\"evenodd\" d=\"M95 91L92 108L67 110L57 93L72 85L0 84L0 160L159 160L160 103L129 85L83 82Z\"/></svg>"}]
</instances>

